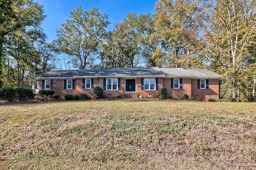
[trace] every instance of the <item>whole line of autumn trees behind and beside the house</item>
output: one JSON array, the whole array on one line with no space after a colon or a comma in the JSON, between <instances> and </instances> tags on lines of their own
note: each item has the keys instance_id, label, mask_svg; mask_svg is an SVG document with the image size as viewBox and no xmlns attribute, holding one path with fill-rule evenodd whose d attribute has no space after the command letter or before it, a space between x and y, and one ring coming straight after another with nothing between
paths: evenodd
<instances>
[{"instance_id":1,"label":"whole line of autumn trees behind and beside the house","mask_svg":"<svg viewBox=\"0 0 256 170\"><path fill-rule=\"evenodd\" d=\"M0 0L0 86L37 86L50 69L158 66L223 76L220 98L255 100L256 0L158 0L109 30L107 14L80 6L47 42L43 6Z\"/></svg>"}]
</instances>

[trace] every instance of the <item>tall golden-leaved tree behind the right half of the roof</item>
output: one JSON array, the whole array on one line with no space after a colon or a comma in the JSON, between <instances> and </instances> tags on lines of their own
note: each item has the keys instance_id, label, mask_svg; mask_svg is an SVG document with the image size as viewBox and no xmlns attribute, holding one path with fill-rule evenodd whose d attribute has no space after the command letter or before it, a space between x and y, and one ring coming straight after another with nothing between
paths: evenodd
<instances>
[{"instance_id":1,"label":"tall golden-leaved tree behind the right half of the roof","mask_svg":"<svg viewBox=\"0 0 256 170\"><path fill-rule=\"evenodd\" d=\"M202 7L199 0L158 0L156 3L155 29L160 35L166 53L165 66L175 68L202 66L199 53ZM158 54L161 54L159 52Z\"/></svg>"}]
</instances>

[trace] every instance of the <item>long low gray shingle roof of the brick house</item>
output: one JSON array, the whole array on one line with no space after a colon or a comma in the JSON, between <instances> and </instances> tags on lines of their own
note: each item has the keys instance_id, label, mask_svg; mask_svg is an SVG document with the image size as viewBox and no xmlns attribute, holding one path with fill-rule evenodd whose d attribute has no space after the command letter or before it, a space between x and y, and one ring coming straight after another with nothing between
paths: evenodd
<instances>
[{"instance_id":1,"label":"long low gray shingle roof of the brick house","mask_svg":"<svg viewBox=\"0 0 256 170\"><path fill-rule=\"evenodd\" d=\"M129 68L88 68L84 70L50 70L37 79L45 78L97 78L97 77L191 77L222 78L207 69L129 67Z\"/></svg>"}]
</instances>

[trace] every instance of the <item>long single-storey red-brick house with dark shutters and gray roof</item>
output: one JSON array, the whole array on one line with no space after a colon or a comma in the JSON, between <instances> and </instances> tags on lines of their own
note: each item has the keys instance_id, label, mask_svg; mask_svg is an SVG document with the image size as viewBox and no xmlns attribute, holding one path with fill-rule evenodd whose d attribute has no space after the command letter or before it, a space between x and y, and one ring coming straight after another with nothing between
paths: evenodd
<instances>
[{"instance_id":1,"label":"long single-storey red-brick house with dark shutters and gray roof","mask_svg":"<svg viewBox=\"0 0 256 170\"><path fill-rule=\"evenodd\" d=\"M88 68L84 70L51 70L36 77L39 90L53 89L56 95L92 96L96 86L103 89L104 98L158 98L160 89L166 87L168 96L180 99L189 97L219 98L219 80L222 76L207 69L132 67ZM168 97L167 96L167 97Z\"/></svg>"}]
</instances>

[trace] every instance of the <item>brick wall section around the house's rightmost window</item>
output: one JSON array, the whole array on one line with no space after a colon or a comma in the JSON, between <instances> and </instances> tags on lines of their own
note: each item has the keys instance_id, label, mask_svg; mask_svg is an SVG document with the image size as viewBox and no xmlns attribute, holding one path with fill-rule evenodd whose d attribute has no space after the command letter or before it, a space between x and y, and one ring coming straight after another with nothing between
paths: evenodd
<instances>
[{"instance_id":1,"label":"brick wall section around the house's rightmost window","mask_svg":"<svg viewBox=\"0 0 256 170\"><path fill-rule=\"evenodd\" d=\"M191 96L194 100L202 98L204 101L208 101L210 98L219 99L219 80L218 79L209 79L209 88L208 89L198 89L197 88L197 79L192 79L191 87Z\"/></svg>"}]
</instances>

